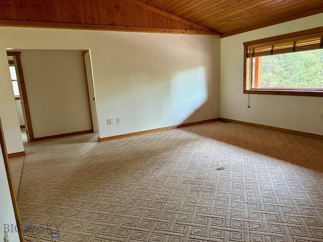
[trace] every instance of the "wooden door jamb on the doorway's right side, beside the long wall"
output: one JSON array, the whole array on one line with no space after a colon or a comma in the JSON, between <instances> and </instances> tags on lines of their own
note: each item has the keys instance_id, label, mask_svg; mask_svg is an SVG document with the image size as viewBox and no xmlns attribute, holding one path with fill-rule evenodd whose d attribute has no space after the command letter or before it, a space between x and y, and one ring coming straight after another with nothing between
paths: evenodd
<instances>
[{"instance_id":1,"label":"wooden door jamb on the doorway's right side, beside the long wall","mask_svg":"<svg viewBox=\"0 0 323 242\"><path fill-rule=\"evenodd\" d=\"M94 91L94 83L93 83L93 71L92 71L90 50L89 49L83 50L82 54L83 54L83 63L84 63L85 79L86 79L86 86L87 86L87 92L88 92L88 101L89 101L89 107L90 107L92 129L93 129L93 133L97 133L99 132L99 130L98 130L98 122L97 122L96 101L95 101L95 91Z\"/></svg>"}]
</instances>

